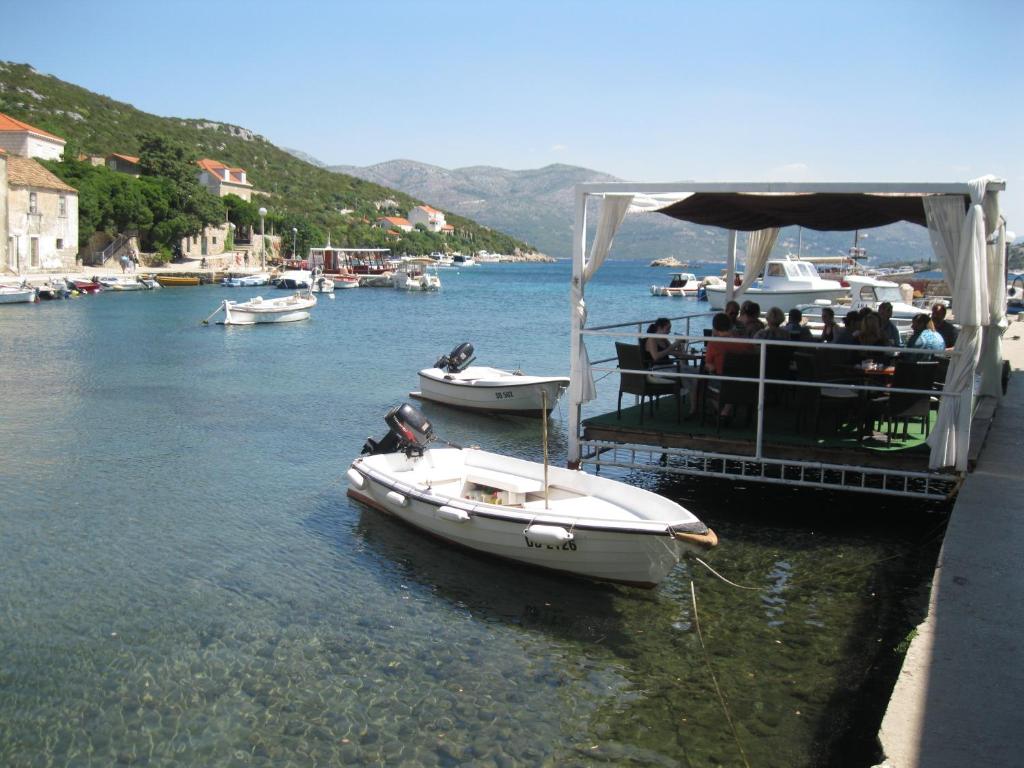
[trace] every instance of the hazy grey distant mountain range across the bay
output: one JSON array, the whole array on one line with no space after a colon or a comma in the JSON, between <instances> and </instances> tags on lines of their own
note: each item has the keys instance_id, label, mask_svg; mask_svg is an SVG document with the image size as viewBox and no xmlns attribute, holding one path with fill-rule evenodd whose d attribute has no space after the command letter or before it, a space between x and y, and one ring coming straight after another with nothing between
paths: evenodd
<instances>
[{"instance_id":1,"label":"hazy grey distant mountain range across the bay","mask_svg":"<svg viewBox=\"0 0 1024 768\"><path fill-rule=\"evenodd\" d=\"M300 154L306 162L319 164ZM610 174L570 165L525 171L490 166L447 169L413 160L391 160L358 167L325 166L328 170L400 189L445 211L472 218L532 244L560 258L572 252L572 188L586 181L620 181ZM779 236L777 250L796 252L796 227ZM743 240L740 238L740 247ZM829 256L853 245L852 232L803 231L802 253ZM861 232L859 245L874 263L927 260L928 232L907 223ZM654 259L676 256L689 261L722 261L726 234L714 227L676 221L667 216L629 216L615 237L613 258Z\"/></svg>"}]
</instances>

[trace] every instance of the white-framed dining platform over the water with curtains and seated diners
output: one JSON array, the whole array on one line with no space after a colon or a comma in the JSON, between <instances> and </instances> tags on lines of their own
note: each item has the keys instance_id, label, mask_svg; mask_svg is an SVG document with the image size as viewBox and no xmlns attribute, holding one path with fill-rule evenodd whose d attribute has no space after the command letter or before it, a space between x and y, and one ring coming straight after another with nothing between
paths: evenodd
<instances>
[{"instance_id":1,"label":"white-framed dining platform over the water with curtains and seated diners","mask_svg":"<svg viewBox=\"0 0 1024 768\"><path fill-rule=\"evenodd\" d=\"M1004 187L991 177L949 184L578 185L570 465L952 497L1002 395L1007 237L998 193ZM596 234L588 243L588 216L598 207ZM674 369L653 376L640 349L653 318L587 324L586 285L631 211L728 231L719 305L744 298L782 226L855 230L896 221L927 226L961 327L955 346L935 353L716 338L714 343L735 345L736 353L725 355L722 371L708 373L700 362L711 315L689 313L673 318L675 333L656 335L685 353L676 357ZM751 233L741 273L736 268L739 231ZM773 305L769 282L759 284L763 308ZM620 400L626 396L629 402L632 396L637 404L601 412L609 396L598 396L598 381L617 387ZM686 419L683 401L693 413ZM728 419L721 418L729 411Z\"/></svg>"}]
</instances>

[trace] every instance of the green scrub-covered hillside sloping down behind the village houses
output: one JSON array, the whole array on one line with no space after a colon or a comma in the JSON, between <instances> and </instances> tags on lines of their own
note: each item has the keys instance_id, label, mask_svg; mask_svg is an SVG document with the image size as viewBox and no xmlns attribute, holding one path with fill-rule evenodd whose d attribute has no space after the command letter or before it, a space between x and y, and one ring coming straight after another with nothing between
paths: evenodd
<instances>
[{"instance_id":1,"label":"green scrub-covered hillside sloping down behind the village houses","mask_svg":"<svg viewBox=\"0 0 1024 768\"><path fill-rule=\"evenodd\" d=\"M40 74L28 65L0 61L0 112L63 137L75 154L104 156L116 152L138 156L144 137L160 136L184 146L197 159L207 157L245 168L255 189L265 194L254 195L253 203L269 210L268 229L276 225L287 231L293 223L304 224L299 228L307 242L300 243L300 252L310 245L322 245L328 232L335 245L383 246L408 253L443 250L445 246L450 250L486 249L499 253L536 250L447 211L445 218L455 227L454 236L413 231L400 240L388 238L369 222L381 215L404 216L423 201L318 168L248 129L208 120L150 115ZM391 210L379 210L374 205L386 200L397 205Z\"/></svg>"}]
</instances>

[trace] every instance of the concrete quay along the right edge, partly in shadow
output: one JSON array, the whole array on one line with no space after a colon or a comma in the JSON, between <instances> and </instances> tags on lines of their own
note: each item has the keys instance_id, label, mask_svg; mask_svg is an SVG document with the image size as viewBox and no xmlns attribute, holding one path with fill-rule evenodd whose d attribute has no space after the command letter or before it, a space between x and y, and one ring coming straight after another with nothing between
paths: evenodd
<instances>
[{"instance_id":1,"label":"concrete quay along the right edge, partly in shadow","mask_svg":"<svg viewBox=\"0 0 1024 768\"><path fill-rule=\"evenodd\" d=\"M879 738L887 768L1024 763L1024 323L1015 371L949 519L928 617Z\"/></svg>"}]
</instances>

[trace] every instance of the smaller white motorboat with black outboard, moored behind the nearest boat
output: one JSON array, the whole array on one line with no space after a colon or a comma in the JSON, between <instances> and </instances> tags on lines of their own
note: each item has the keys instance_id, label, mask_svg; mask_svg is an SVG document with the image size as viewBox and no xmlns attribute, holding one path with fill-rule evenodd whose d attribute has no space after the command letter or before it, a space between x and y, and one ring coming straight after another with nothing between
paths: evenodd
<instances>
[{"instance_id":1,"label":"smaller white motorboat with black outboard, moored behind the nearest boat","mask_svg":"<svg viewBox=\"0 0 1024 768\"><path fill-rule=\"evenodd\" d=\"M526 376L471 366L473 359L473 345L460 344L433 368L420 371L420 391L412 395L468 411L525 416L550 414L569 385L564 376Z\"/></svg>"}]
</instances>

